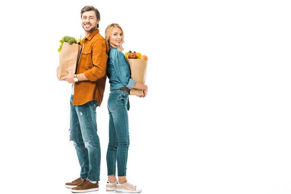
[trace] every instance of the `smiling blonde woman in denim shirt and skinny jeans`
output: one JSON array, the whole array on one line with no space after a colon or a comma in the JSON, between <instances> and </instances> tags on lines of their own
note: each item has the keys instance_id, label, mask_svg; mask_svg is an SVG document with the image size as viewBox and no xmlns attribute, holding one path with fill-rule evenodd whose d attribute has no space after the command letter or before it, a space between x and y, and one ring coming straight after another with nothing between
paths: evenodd
<instances>
[{"instance_id":1,"label":"smiling blonde woman in denim shirt and skinny jeans","mask_svg":"<svg viewBox=\"0 0 291 194\"><path fill-rule=\"evenodd\" d=\"M110 94L107 108L109 113L109 143L106 155L108 181L106 191L124 193L140 193L142 190L126 179L127 159L129 150L129 89L144 91L147 85L130 79L129 64L121 52L124 35L122 28L115 23L107 26L105 40L108 41L110 52L107 61L107 76L110 83ZM116 162L118 182L116 179Z\"/></svg>"}]
</instances>

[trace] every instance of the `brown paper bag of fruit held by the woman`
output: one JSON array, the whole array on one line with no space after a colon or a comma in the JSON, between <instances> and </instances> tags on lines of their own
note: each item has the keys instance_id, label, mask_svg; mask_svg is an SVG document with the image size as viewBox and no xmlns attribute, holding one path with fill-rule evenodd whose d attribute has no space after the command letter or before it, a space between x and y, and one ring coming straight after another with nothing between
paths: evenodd
<instances>
[{"instance_id":1,"label":"brown paper bag of fruit held by the woman","mask_svg":"<svg viewBox=\"0 0 291 194\"><path fill-rule=\"evenodd\" d=\"M130 69L130 78L136 82L145 84L146 82L146 67L147 61L140 59L128 59L129 69ZM144 92L139 89L130 89L129 95L133 96L143 96Z\"/></svg>"}]
</instances>

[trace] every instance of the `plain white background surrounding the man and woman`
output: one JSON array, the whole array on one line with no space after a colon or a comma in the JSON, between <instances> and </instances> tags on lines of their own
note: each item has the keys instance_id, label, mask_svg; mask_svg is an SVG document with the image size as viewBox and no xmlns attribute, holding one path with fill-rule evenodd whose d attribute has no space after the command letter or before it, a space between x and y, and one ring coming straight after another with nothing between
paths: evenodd
<instances>
[{"instance_id":1,"label":"plain white background surrounding the man and woman","mask_svg":"<svg viewBox=\"0 0 291 194\"><path fill-rule=\"evenodd\" d=\"M69 194L71 85L58 81L64 35L118 23L125 52L148 56L146 98L130 96L128 180L144 194L291 194L289 0L1 2L1 194ZM97 127L106 193L109 84Z\"/></svg>"}]
</instances>

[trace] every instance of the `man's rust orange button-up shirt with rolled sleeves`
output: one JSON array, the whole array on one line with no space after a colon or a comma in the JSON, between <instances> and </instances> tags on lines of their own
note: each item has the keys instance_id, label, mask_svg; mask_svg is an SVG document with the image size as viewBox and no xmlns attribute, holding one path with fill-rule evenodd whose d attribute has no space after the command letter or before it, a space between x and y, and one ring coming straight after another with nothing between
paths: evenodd
<instances>
[{"instance_id":1,"label":"man's rust orange button-up shirt with rolled sleeves","mask_svg":"<svg viewBox=\"0 0 291 194\"><path fill-rule=\"evenodd\" d=\"M76 73L84 73L88 80L75 82L73 105L83 105L91 100L96 100L100 106L107 78L106 64L109 46L100 35L99 29L83 38L81 46L82 51Z\"/></svg>"}]
</instances>

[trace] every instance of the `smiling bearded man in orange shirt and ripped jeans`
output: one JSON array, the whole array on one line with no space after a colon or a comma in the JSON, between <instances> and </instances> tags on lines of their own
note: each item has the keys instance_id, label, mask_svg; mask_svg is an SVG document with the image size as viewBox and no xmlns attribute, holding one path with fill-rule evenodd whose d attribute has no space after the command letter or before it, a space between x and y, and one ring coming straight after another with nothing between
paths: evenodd
<instances>
[{"instance_id":1,"label":"smiling bearded man in orange shirt and ripped jeans","mask_svg":"<svg viewBox=\"0 0 291 194\"><path fill-rule=\"evenodd\" d=\"M100 142L96 108L101 105L106 83L109 46L99 34L100 14L93 6L81 9L81 57L75 72L59 78L72 84L70 99L70 141L74 142L81 166L80 178L65 183L73 193L98 191L100 180ZM78 186L77 186L78 185Z\"/></svg>"}]
</instances>

